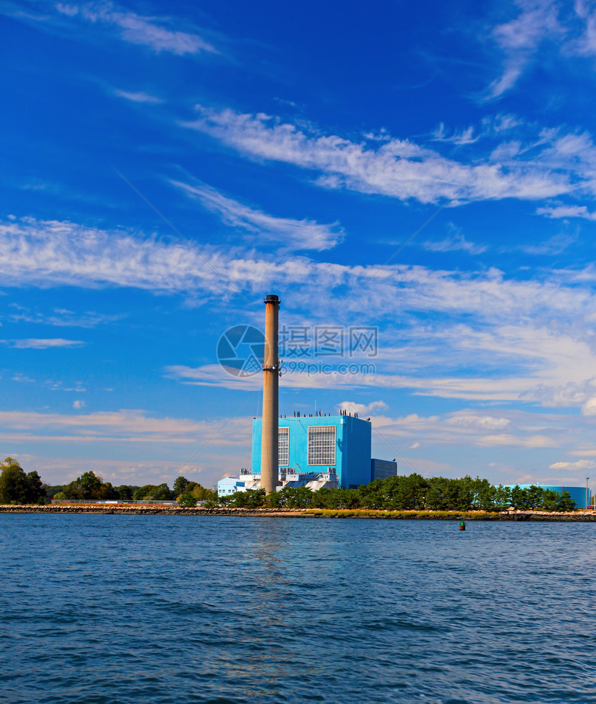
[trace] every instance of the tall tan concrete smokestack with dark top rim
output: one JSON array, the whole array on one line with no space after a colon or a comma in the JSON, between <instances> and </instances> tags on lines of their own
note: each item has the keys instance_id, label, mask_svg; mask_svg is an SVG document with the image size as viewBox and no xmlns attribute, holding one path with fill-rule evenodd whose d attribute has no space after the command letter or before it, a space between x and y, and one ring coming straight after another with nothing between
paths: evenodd
<instances>
[{"instance_id":1,"label":"tall tan concrete smokestack with dark top rim","mask_svg":"<svg viewBox=\"0 0 596 704\"><path fill-rule=\"evenodd\" d=\"M279 373L278 296L265 298L265 359L263 362L263 436L261 439L261 489L267 494L278 486L279 472Z\"/></svg>"}]
</instances>

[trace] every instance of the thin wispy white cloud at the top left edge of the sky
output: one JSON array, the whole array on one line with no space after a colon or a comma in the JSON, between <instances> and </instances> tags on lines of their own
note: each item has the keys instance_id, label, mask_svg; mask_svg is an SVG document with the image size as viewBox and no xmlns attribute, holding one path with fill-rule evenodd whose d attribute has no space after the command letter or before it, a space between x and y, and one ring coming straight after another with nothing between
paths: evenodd
<instances>
[{"instance_id":1,"label":"thin wispy white cloud at the top left edge of the sky","mask_svg":"<svg viewBox=\"0 0 596 704\"><path fill-rule=\"evenodd\" d=\"M69 18L80 18L92 24L113 25L120 30L120 37L125 42L149 46L156 54L161 51L168 51L177 56L199 54L203 51L218 53L217 49L199 37L199 34L165 26L170 23L168 18L143 17L118 8L111 2L80 5L57 3L56 10Z\"/></svg>"}]
</instances>

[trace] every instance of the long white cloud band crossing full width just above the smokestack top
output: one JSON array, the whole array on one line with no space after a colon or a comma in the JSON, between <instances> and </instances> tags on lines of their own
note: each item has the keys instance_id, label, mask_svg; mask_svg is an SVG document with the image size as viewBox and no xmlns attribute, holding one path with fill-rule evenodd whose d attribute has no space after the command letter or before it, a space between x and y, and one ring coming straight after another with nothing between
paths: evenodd
<instances>
[{"instance_id":1,"label":"long white cloud band crossing full width just above the smokestack top","mask_svg":"<svg viewBox=\"0 0 596 704\"><path fill-rule=\"evenodd\" d=\"M578 311L582 316L596 313L592 275L584 270L523 280L506 277L495 268L450 272L395 264L379 270L375 265L317 262L306 256L242 256L225 247L205 247L205 253L217 270L185 244L139 232L33 218L0 222L0 274L5 287L122 286L221 295L220 271L241 290L261 291L265 283L282 293L292 287L292 305L309 306L313 315L316 306L312 305L321 288L327 291L332 308L346 301L347 292L358 291L347 310L383 318L395 315L395 310L433 310L449 315L473 313L478 321L501 325L511 322L510 316L569 320ZM373 272L377 273L374 290L361 289ZM296 288L305 281L311 285ZM585 285L578 285L581 282Z\"/></svg>"}]
</instances>

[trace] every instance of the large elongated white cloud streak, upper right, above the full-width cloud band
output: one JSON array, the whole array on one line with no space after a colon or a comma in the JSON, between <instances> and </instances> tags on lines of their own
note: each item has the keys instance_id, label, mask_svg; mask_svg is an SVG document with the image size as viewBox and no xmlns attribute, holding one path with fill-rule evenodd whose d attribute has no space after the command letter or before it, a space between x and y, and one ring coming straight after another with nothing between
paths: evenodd
<instances>
[{"instance_id":1,"label":"large elongated white cloud streak, upper right, above the full-width cloud band","mask_svg":"<svg viewBox=\"0 0 596 704\"><path fill-rule=\"evenodd\" d=\"M485 199L533 200L567 194L576 189L569 174L543 164L539 156L519 158L502 165L497 161L470 165L442 156L408 139L389 139L369 147L337 135L321 135L311 127L297 127L263 113L242 114L230 109L216 111L198 105L199 117L181 122L210 134L251 158L291 163L320 172L316 181L325 188L347 188L362 193L392 196L402 201L416 199L435 203L453 198L456 203ZM563 153L551 151L550 161L560 162ZM564 157L569 170L576 169ZM465 184L465 185L464 185ZM591 175L586 187L594 188Z\"/></svg>"}]
</instances>

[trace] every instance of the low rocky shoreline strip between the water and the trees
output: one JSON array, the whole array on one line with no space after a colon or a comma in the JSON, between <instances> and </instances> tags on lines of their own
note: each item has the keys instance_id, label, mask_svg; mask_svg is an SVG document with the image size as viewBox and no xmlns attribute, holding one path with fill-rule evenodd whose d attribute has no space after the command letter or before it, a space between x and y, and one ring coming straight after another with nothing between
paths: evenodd
<instances>
[{"instance_id":1,"label":"low rocky shoreline strip between the water and the trees","mask_svg":"<svg viewBox=\"0 0 596 704\"><path fill-rule=\"evenodd\" d=\"M532 521L532 522L596 522L596 511L390 511L371 509L323 508L181 508L156 505L105 504L50 504L0 505L0 513L63 513L63 514L119 514L119 515L177 515L177 516L249 516L281 518L342 518L375 520L466 520L466 521Z\"/></svg>"}]
</instances>

